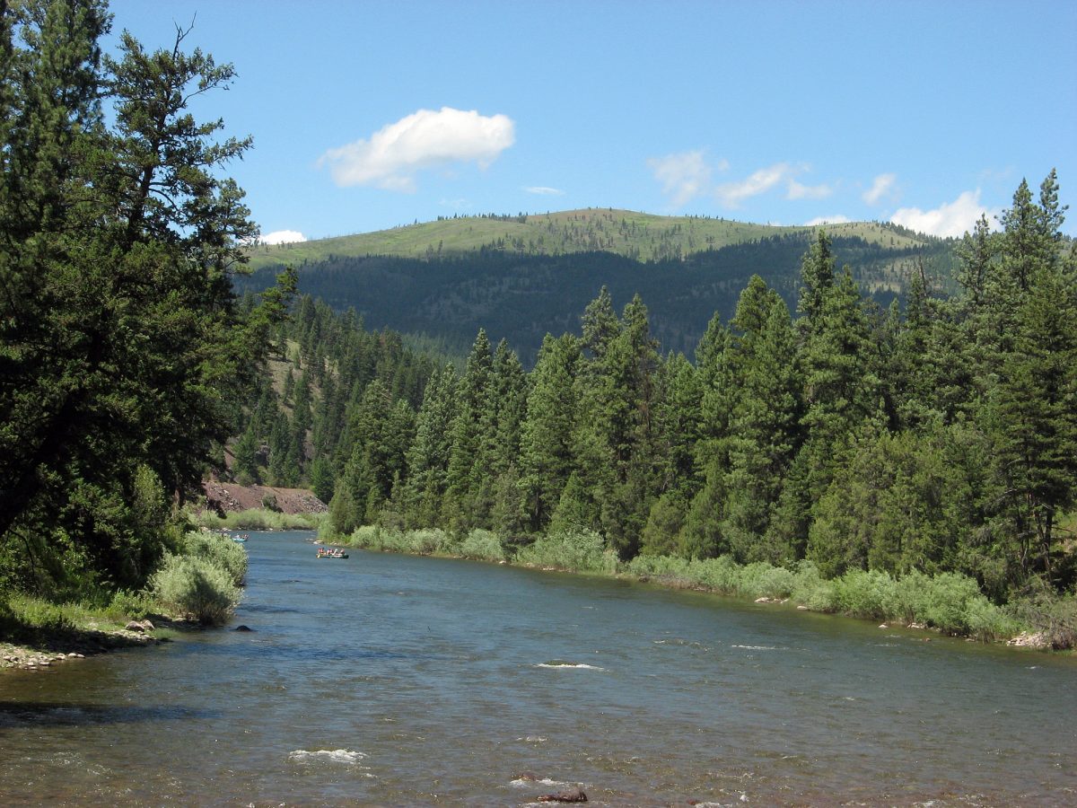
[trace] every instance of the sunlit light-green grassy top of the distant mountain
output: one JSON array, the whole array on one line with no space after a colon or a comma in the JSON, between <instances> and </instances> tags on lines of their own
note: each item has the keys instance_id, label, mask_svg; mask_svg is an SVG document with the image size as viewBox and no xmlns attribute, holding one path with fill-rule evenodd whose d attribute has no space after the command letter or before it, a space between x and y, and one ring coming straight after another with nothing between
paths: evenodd
<instances>
[{"instance_id":1,"label":"sunlit light-green grassy top of the distant mountain","mask_svg":"<svg viewBox=\"0 0 1077 808\"><path fill-rule=\"evenodd\" d=\"M891 224L849 222L826 226L836 238L861 238L903 250L936 239ZM377 233L323 238L250 251L255 268L274 264L316 263L339 257L395 255L438 259L480 250L517 255L610 252L635 261L679 259L772 236L811 233L814 227L783 227L702 217L661 217L612 208L559 213L453 217Z\"/></svg>"}]
</instances>

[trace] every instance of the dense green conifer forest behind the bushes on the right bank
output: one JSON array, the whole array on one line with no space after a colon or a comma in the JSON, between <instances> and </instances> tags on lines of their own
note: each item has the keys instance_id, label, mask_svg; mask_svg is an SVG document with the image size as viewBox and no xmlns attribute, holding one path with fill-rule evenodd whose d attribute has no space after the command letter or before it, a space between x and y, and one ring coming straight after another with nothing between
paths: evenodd
<instances>
[{"instance_id":1,"label":"dense green conifer forest behind the bushes on the right bank","mask_svg":"<svg viewBox=\"0 0 1077 808\"><path fill-rule=\"evenodd\" d=\"M390 356L388 334L339 354L342 321L304 301L282 334L296 346L291 429L313 424L298 468L332 490L341 534L479 529L510 549L591 531L621 558L959 573L997 600L1072 591L1077 261L1064 210L1053 172L1038 199L1022 183L1002 232L981 219L960 245L960 294L915 273L905 305L885 309L820 232L796 311L754 276L694 361L660 350L641 296L618 314L605 289L579 330L546 335L530 373L485 331L459 375ZM251 429L248 444L268 440Z\"/></svg>"}]
</instances>

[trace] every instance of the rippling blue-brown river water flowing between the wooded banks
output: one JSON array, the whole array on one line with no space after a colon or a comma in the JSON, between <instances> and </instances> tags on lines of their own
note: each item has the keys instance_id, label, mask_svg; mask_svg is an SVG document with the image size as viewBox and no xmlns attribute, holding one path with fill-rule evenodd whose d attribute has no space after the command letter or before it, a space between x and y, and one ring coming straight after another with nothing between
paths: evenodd
<instances>
[{"instance_id":1,"label":"rippling blue-brown river water flowing between the wooded banks","mask_svg":"<svg viewBox=\"0 0 1077 808\"><path fill-rule=\"evenodd\" d=\"M0 804L1077 804L1072 657L309 538L251 632L0 677Z\"/></svg>"}]
</instances>

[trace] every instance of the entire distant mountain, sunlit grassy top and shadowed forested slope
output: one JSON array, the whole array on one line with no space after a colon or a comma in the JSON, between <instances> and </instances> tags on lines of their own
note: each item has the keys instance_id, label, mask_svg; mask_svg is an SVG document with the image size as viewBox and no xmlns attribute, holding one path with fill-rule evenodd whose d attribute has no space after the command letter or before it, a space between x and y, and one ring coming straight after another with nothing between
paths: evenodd
<instances>
[{"instance_id":1,"label":"entire distant mountain, sunlit grassy top and shadowed forested slope","mask_svg":"<svg viewBox=\"0 0 1077 808\"><path fill-rule=\"evenodd\" d=\"M260 260L255 264L262 268L237 284L241 290L263 289L286 261L298 267L303 292L337 309L354 308L367 328L425 334L461 352L478 329L485 328L493 340L507 338L527 363L533 360L545 334L578 332L584 307L604 284L618 307L633 294L641 294L663 350L691 356L715 311L723 319L732 316L753 274L761 276L795 308L800 259L815 233L815 228L808 227L779 228L627 211L574 211L527 219L524 223L506 219L442 220L350 239L305 242L292 249L269 248L256 252ZM528 239L520 248L522 235L514 236L515 242L499 242L505 238L503 235L493 242L484 241L508 233L509 227L532 226L533 219L541 220L534 226L553 225L568 234L557 250L553 250L553 235L541 242L544 249L551 250L547 253L529 252ZM635 234L631 233L633 226ZM578 245L581 234L588 231L595 239L605 239L603 249L569 249L570 245ZM645 235L641 236L641 232ZM440 255L436 247L433 254L417 253L432 233L442 234ZM480 237L475 235L479 233ZM918 261L941 276L943 282L952 274L950 241L864 223L829 226L827 233L839 266L848 264L862 289L883 306L901 294ZM459 247L467 238L475 238L478 245L471 251ZM713 239L710 246L705 246L708 238ZM642 250L652 243L649 239L654 239L659 252L671 251L675 257L640 261L625 254ZM719 240L726 243L719 245ZM446 247L448 243L453 247ZM537 249L540 242L534 245ZM377 254L376 246L380 246L381 254ZM361 254L347 254L345 249Z\"/></svg>"}]
</instances>

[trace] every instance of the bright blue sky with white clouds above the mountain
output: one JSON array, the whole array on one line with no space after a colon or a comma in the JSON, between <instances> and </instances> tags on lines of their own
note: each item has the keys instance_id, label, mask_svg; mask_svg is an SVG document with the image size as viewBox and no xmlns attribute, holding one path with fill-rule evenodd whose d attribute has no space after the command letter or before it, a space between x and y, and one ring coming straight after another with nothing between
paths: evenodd
<instances>
[{"instance_id":1,"label":"bright blue sky with white clouds above the mountain","mask_svg":"<svg viewBox=\"0 0 1077 808\"><path fill-rule=\"evenodd\" d=\"M269 240L586 207L960 235L1022 178L1077 187L1063 0L111 10L148 48L194 20L236 66L193 111L253 136L229 170Z\"/></svg>"}]
</instances>

